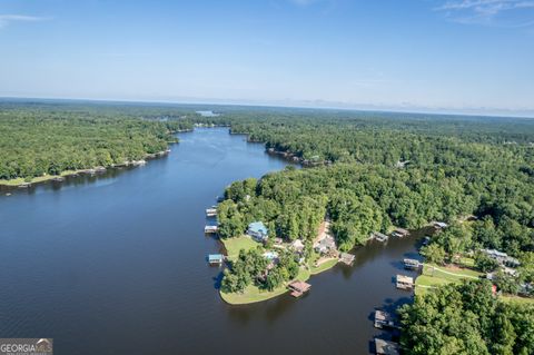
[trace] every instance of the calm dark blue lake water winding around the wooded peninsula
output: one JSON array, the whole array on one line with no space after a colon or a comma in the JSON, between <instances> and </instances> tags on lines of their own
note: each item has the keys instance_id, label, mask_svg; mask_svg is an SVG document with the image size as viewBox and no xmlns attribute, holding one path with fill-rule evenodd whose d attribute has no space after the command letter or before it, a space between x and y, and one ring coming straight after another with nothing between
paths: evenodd
<instances>
[{"instance_id":1,"label":"calm dark blue lake water winding around the wooded peninsula","mask_svg":"<svg viewBox=\"0 0 534 355\"><path fill-rule=\"evenodd\" d=\"M367 354L373 309L411 297L393 277L416 237L359 248L301 299L229 306L205 208L287 162L227 129L179 137L145 167L0 196L0 337L53 337L68 355Z\"/></svg>"}]
</instances>

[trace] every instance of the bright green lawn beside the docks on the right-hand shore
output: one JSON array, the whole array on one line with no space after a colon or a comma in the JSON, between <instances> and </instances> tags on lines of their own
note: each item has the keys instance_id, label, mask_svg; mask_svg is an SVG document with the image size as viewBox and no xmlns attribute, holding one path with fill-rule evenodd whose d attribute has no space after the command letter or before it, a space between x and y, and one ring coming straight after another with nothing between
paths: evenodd
<instances>
[{"instance_id":1,"label":"bright green lawn beside the docks on the right-hand shore","mask_svg":"<svg viewBox=\"0 0 534 355\"><path fill-rule=\"evenodd\" d=\"M423 275L415 279L415 293L417 295L425 294L434 287L459 283L463 279L477 279L481 275L483 274L466 268L424 264Z\"/></svg>"}]
</instances>

